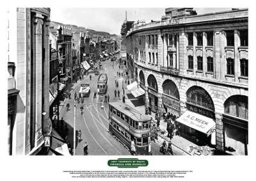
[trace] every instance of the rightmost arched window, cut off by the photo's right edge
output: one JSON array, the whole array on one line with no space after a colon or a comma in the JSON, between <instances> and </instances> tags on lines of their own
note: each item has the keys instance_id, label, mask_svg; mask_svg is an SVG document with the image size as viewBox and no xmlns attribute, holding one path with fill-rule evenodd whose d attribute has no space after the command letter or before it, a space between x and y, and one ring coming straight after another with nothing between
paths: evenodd
<instances>
[{"instance_id":1,"label":"rightmost arched window, cut off by the photo's right edge","mask_svg":"<svg viewBox=\"0 0 256 181\"><path fill-rule=\"evenodd\" d=\"M244 95L233 95L225 103L225 114L230 114L248 120L248 97Z\"/></svg>"}]
</instances>

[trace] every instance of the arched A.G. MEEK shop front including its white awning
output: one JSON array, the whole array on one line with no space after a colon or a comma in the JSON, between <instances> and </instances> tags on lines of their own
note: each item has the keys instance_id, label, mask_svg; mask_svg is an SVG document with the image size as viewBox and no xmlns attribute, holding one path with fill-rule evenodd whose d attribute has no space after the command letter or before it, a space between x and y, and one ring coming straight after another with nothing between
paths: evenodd
<instances>
[{"instance_id":1,"label":"arched A.G. MEEK shop front including its white awning","mask_svg":"<svg viewBox=\"0 0 256 181\"><path fill-rule=\"evenodd\" d=\"M215 109L209 93L193 86L186 96L187 111L177 119L180 134L197 145L216 145Z\"/></svg>"}]
</instances>

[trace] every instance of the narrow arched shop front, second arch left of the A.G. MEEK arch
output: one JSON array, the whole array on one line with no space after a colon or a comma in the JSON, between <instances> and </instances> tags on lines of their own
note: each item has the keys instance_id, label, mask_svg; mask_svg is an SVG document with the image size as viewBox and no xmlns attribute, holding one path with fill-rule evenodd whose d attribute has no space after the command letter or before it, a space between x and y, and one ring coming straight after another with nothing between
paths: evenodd
<instances>
[{"instance_id":1,"label":"narrow arched shop front, second arch left of the A.G. MEEK arch","mask_svg":"<svg viewBox=\"0 0 256 181\"><path fill-rule=\"evenodd\" d=\"M157 112L158 106L158 89L157 81L154 75L148 75L148 106L151 107L153 113Z\"/></svg>"}]
</instances>

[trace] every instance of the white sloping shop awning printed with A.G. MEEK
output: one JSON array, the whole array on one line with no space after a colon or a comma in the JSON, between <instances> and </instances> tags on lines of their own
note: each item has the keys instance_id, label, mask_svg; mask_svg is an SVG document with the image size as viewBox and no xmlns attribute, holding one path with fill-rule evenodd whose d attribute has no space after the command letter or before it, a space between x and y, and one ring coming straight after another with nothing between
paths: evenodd
<instances>
[{"instance_id":1,"label":"white sloping shop awning printed with A.G. MEEK","mask_svg":"<svg viewBox=\"0 0 256 181\"><path fill-rule=\"evenodd\" d=\"M204 132L207 135L210 135L215 131L216 123L214 120L191 111L186 111L176 121L200 132Z\"/></svg>"}]
</instances>

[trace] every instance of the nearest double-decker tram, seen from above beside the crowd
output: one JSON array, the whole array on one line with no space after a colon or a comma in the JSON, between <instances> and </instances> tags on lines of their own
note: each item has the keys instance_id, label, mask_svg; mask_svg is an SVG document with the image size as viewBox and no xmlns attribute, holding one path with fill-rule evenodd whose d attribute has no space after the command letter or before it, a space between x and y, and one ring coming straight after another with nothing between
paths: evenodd
<instances>
[{"instance_id":1,"label":"nearest double-decker tram, seen from above beside the crowd","mask_svg":"<svg viewBox=\"0 0 256 181\"><path fill-rule=\"evenodd\" d=\"M151 118L123 102L109 102L109 131L131 149L134 140L138 155L152 155Z\"/></svg>"}]
</instances>

